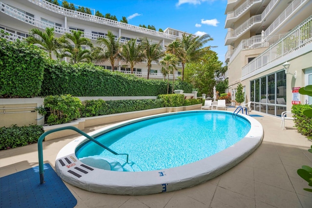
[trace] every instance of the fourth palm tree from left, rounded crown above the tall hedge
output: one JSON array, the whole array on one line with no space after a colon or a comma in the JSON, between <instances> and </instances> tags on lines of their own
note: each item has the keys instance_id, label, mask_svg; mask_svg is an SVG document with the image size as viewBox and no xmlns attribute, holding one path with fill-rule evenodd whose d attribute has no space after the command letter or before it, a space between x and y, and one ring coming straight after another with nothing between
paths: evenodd
<instances>
[{"instance_id":1,"label":"fourth palm tree from left, rounded crown above the tall hedge","mask_svg":"<svg viewBox=\"0 0 312 208\"><path fill-rule=\"evenodd\" d=\"M131 74L133 74L135 65L144 59L144 50L141 44L137 44L137 38L122 45L121 58L130 65Z\"/></svg>"}]
</instances>

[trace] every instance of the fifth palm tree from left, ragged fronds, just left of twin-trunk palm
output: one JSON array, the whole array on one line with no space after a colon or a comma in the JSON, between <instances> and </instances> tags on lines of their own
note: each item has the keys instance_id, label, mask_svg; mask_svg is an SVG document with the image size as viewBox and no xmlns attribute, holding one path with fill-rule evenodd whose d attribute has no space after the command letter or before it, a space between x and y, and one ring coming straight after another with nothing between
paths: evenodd
<instances>
[{"instance_id":1,"label":"fifth palm tree from left, ragged fronds, just left of twin-trunk palm","mask_svg":"<svg viewBox=\"0 0 312 208\"><path fill-rule=\"evenodd\" d=\"M164 53L160 46L160 41L158 43L152 43L147 37L141 39L141 45L144 53L144 59L147 62L147 79L149 79L152 62L155 61L156 63L159 62L159 59L163 57Z\"/></svg>"}]
</instances>

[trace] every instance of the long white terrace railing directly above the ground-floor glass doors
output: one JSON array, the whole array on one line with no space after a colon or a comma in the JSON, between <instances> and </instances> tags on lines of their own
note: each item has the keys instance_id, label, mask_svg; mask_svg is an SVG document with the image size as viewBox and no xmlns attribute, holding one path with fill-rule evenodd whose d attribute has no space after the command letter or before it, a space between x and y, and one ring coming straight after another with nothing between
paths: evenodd
<instances>
[{"instance_id":1,"label":"long white terrace railing directly above the ground-floor glass doors","mask_svg":"<svg viewBox=\"0 0 312 208\"><path fill-rule=\"evenodd\" d=\"M242 77L312 43L312 16L242 68Z\"/></svg>"}]
</instances>

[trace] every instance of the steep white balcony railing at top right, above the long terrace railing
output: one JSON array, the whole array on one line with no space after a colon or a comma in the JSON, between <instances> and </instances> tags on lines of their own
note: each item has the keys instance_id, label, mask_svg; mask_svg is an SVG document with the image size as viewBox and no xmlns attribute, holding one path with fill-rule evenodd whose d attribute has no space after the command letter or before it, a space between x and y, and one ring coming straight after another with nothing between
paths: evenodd
<instances>
[{"instance_id":1,"label":"steep white balcony railing at top right, above the long terrace railing","mask_svg":"<svg viewBox=\"0 0 312 208\"><path fill-rule=\"evenodd\" d=\"M293 0L288 7L276 18L273 23L266 29L264 32L265 36L269 36L272 34L273 30L275 28L278 28L279 25L287 18L289 17L292 12L298 8L303 2L308 1L308 0Z\"/></svg>"}]
</instances>

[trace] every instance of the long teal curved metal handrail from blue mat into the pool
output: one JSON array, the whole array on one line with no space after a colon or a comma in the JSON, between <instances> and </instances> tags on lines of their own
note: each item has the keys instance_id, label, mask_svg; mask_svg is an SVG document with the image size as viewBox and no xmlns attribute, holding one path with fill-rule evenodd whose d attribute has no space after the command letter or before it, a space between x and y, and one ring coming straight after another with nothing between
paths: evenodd
<instances>
[{"instance_id":1,"label":"long teal curved metal handrail from blue mat into the pool","mask_svg":"<svg viewBox=\"0 0 312 208\"><path fill-rule=\"evenodd\" d=\"M110 152L112 152L113 154L115 155L127 155L127 163L128 163L128 158L129 158L129 154L127 153L117 153L116 151L113 151L111 149L109 149L108 147L106 147L105 145L99 143L96 139L94 139L92 136L86 134L85 132L82 132L81 130L77 129L76 127L73 127L73 126L66 126L66 127L60 127L60 128L57 128L57 129L53 129L53 130L49 130L47 132L44 132L41 134L41 136L39 137L38 139L38 157L39 157L39 174L40 174L40 184L43 184L44 183L44 176L43 176L43 173L44 173L44 169L43 169L43 151L42 151L42 141L44 139L44 137L50 133L53 133L53 132L59 132L59 131L62 131L62 130L74 130L80 134L82 134L83 136L87 137L88 139L90 139L91 141L97 143L99 146L101 146L102 148L104 148L105 150L108 150Z\"/></svg>"}]
</instances>

